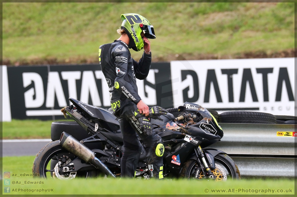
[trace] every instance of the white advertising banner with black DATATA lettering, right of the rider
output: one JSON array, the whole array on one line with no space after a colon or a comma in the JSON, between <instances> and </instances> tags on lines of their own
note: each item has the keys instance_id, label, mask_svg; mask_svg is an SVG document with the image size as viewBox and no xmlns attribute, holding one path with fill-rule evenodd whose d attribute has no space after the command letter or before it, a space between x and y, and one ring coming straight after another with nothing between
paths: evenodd
<instances>
[{"instance_id":1,"label":"white advertising banner with black DATATA lettering, right of the rider","mask_svg":"<svg viewBox=\"0 0 297 197\"><path fill-rule=\"evenodd\" d=\"M173 105L294 116L294 58L170 62Z\"/></svg>"}]
</instances>

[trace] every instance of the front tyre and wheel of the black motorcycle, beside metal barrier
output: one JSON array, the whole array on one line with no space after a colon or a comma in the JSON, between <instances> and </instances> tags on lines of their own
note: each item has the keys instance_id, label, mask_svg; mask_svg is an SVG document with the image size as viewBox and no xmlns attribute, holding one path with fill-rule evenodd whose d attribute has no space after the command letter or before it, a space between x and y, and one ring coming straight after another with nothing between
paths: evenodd
<instances>
[{"instance_id":1,"label":"front tyre and wheel of the black motorcycle, beside metal barrier","mask_svg":"<svg viewBox=\"0 0 297 197\"><path fill-rule=\"evenodd\" d=\"M231 159L227 154L223 154L223 153L217 154L214 157L214 163L216 164L216 169L218 169L217 168L218 166L219 168L221 168L221 169L218 169L219 171L222 171L222 170L225 171L226 177L223 176L222 180L240 179L240 173L239 173L238 167L236 166L233 159ZM196 169L197 169L196 165L199 166L198 162L194 159L190 159L187 162L185 162L181 170L181 177L189 180L201 179L203 177L203 174L201 177L200 172L199 172L200 178L196 177Z\"/></svg>"}]
</instances>

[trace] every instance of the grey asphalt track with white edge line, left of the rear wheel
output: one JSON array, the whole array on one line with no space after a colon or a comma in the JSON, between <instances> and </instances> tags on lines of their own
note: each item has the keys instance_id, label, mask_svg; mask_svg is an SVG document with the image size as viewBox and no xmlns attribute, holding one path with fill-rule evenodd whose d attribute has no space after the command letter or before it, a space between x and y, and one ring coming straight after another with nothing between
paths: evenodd
<instances>
[{"instance_id":1,"label":"grey asphalt track with white edge line, left of the rear wheel","mask_svg":"<svg viewBox=\"0 0 297 197\"><path fill-rule=\"evenodd\" d=\"M2 140L2 156L35 156L51 139Z\"/></svg>"}]
</instances>

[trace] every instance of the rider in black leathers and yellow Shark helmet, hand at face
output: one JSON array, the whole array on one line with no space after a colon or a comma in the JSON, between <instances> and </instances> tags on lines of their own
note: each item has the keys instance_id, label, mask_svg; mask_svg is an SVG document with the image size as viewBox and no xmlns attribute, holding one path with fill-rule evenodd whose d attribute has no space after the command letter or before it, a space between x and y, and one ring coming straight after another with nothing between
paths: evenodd
<instances>
[{"instance_id":1,"label":"rider in black leathers and yellow Shark helmet, hand at face","mask_svg":"<svg viewBox=\"0 0 297 197\"><path fill-rule=\"evenodd\" d=\"M151 177L163 178L162 139L151 125L150 117L165 114L161 107L149 108L138 95L136 78L144 80L151 66L148 38L155 39L154 27L139 14L122 14L121 37L99 47L99 62L109 86L110 103L119 118L123 134L124 153L121 158L121 177L135 177L141 154L141 143L146 146L146 160ZM132 59L129 49L144 49L139 62ZM136 131L136 132L135 132Z\"/></svg>"}]
</instances>

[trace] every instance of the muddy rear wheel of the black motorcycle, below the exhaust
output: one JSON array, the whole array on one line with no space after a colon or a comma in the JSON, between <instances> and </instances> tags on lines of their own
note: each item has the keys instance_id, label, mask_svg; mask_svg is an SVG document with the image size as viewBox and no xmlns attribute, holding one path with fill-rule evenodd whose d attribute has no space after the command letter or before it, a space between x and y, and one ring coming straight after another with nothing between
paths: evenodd
<instances>
[{"instance_id":1,"label":"muddy rear wheel of the black motorcycle, below the exhaust","mask_svg":"<svg viewBox=\"0 0 297 197\"><path fill-rule=\"evenodd\" d=\"M43 147L39 153L37 154L34 164L32 167L32 172L35 174L40 174L40 177L52 177L54 169L53 165L48 165L52 162L58 162L57 156L58 155L65 155L68 156L71 160L75 159L76 156L69 153L66 149L64 149L59 141L51 141L45 147ZM51 166L50 169L47 169L48 166ZM100 171L99 170L89 170L89 171L79 171L76 174L76 177L83 177L83 178L91 178L91 177L99 177Z\"/></svg>"}]
</instances>

